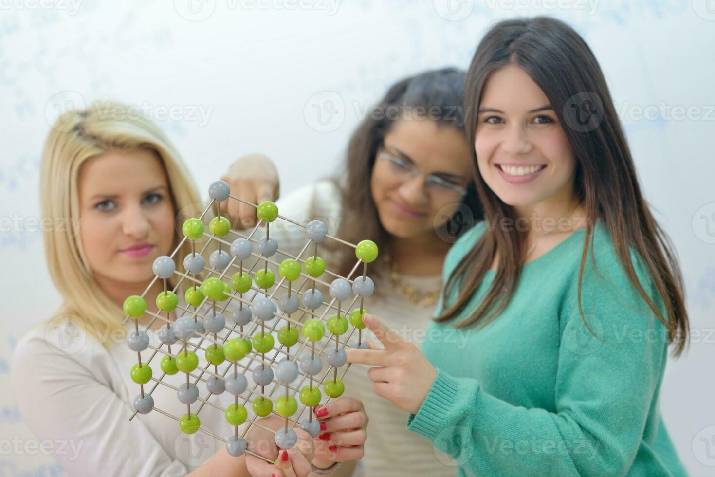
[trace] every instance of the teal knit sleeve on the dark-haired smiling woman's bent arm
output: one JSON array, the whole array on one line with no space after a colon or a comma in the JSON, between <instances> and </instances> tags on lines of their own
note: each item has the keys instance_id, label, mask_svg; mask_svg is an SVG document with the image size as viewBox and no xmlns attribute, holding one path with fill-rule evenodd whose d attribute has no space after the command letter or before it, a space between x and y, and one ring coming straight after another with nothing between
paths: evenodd
<instances>
[{"instance_id":1,"label":"teal knit sleeve on the dark-haired smiling woman's bent arm","mask_svg":"<svg viewBox=\"0 0 715 477\"><path fill-rule=\"evenodd\" d=\"M518 407L476 379L438 371L408 429L453 456L468 475L626 474L657 401L667 334L615 252L601 253L596 263L597 272L589 256L581 303L598 338L578 312L576 284L559 310L555 409ZM634 265L653 297L650 280Z\"/></svg>"}]
</instances>

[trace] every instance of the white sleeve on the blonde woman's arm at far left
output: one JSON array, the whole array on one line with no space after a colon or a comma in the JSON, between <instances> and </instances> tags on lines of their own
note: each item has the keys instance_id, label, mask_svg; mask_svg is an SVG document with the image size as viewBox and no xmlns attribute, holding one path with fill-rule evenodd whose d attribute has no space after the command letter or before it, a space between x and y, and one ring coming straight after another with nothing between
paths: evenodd
<instances>
[{"instance_id":1,"label":"white sleeve on the blonde woman's arm at far left","mask_svg":"<svg viewBox=\"0 0 715 477\"><path fill-rule=\"evenodd\" d=\"M132 409L124 400L74 355L59 349L40 335L21 340L13 354L12 387L37 438L58 443L52 455L66 473L168 477L188 472L140 419L129 421ZM96 369L97 361L89 363Z\"/></svg>"}]
</instances>

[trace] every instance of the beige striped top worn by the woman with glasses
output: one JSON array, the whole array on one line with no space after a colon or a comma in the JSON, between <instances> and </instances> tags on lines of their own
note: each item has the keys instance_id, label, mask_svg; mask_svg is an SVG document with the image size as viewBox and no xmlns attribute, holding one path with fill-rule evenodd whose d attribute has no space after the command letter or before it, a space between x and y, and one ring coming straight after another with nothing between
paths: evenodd
<instances>
[{"instance_id":1,"label":"beige striped top worn by the woman with glasses","mask_svg":"<svg viewBox=\"0 0 715 477\"><path fill-rule=\"evenodd\" d=\"M332 182L321 181L302 187L293 194L282 197L277 205L280 215L306 224L312 218L326 222L328 233L334 234L338 220L342 217L340 195ZM278 221L277 221L278 222ZM289 227L290 228L290 227ZM271 226L270 233L278 240L279 249L297 255L305 246L305 235L285 232L278 224ZM365 237L370 238L370 237ZM312 250L307 250L302 258L309 257ZM332 263L325 252L318 252L330 270ZM370 267L368 265L368 276ZM400 275L403 282L418 290L438 290L441 277L415 277ZM425 339L425 330L432 319L435 305L418 308L413 302L393 290L390 280L380 280L383 292L378 296L365 299L365 308L390 326L413 341L418 347ZM325 295L327 296L327 295ZM370 337L369 330L363 335ZM357 336L353 336L357 338ZM375 340L374 337L372 337ZM339 373L342 372L342 369ZM355 472L350 466L345 471L333 475L353 475L370 477L390 476L454 476L456 468L452 459L436 450L427 439L406 430L408 413L397 408L385 398L373 393L373 383L368 379L368 367L353 365L343 380L345 395L358 398L365 403L365 410L370 417L368 440L365 443L365 457L358 463Z\"/></svg>"}]
</instances>

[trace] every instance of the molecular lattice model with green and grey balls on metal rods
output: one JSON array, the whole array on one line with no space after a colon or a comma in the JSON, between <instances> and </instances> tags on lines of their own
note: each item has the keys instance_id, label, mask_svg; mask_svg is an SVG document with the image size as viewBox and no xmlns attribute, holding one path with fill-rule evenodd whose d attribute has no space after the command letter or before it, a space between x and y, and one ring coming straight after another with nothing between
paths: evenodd
<instances>
[{"instance_id":1,"label":"molecular lattice model with green and grey balls on metal rods","mask_svg":"<svg viewBox=\"0 0 715 477\"><path fill-rule=\"evenodd\" d=\"M327 395L326 403L330 398L342 395L345 385L341 378L350 368L347 365L338 378L338 368L345 365L344 348L368 348L361 333L365 328L363 315L368 313L363 305L365 297L375 290L367 270L368 263L378 256L378 247L370 240L353 245L327 235L325 223L319 220L302 225L282 217L273 202L255 205L242 200L231 195L230 187L223 181L214 182L209 187L209 197L211 202L202 214L184 222L184 238L172 255L164 255L154 261L155 276L147 289L142 295L132 295L124 301L124 323L134 318L134 329L130 330L127 341L129 348L137 351L139 357L139 362L132 367L131 376L139 384L140 393L134 398L135 411L130 419L137 413L146 414L154 410L178 421L184 433L202 431L224 441L232 456L250 453L268 461L265 456L252 452L245 436L251 426L273 431L262 426L257 418L248 418L245 406L251 400L255 415L263 417L275 413L285 418L285 426L274 435L279 448L295 446L297 435L293 428L296 425L310 436L317 436L320 423L312 415L312 409L323 400L320 387ZM259 221L249 234L242 235L232 230L227 217L221 216L221 202L227 199L256 207ZM207 232L202 218L214 202L217 202L218 214L210 221ZM300 227L296 233L305 233L307 242L297 257L279 250L280 244L270 236L270 224L278 218ZM258 231L262 224L265 224L265 237L256 240L254 236L260 235ZM326 270L325 261L318 255L318 246L325 239L355 248L358 260L347 277ZM179 268L173 257L186 240L191 243L192 252ZM200 251L197 251L197 240L207 240ZM218 250L209 255L207 267L202 254L212 241L215 241ZM302 258L308 255L306 250L311 245L312 255ZM282 262L271 260L270 257L277 252L288 258ZM253 267L247 270L244 261L250 257L256 260ZM275 273L268 268L269 263L278 269L278 282ZM351 280L361 263L362 276ZM204 272L207 276L204 280L197 278ZM173 290L168 290L167 279L174 275L179 277L178 283ZM330 277L329 281L321 280L326 276ZM163 280L164 291L157 295L159 311L152 313L147 310L144 295L156 280ZM185 308L179 305L177 297L177 289L184 280L193 285L184 295ZM329 303L324 301L316 284L330 290ZM358 298L360 303L356 305ZM170 318L174 310L183 313L176 320ZM145 314L151 316L147 329L152 327L154 320L165 322L157 332L160 342L157 346L151 345L147 333L139 330L138 319ZM274 320L274 324L267 325L266 322L273 318L278 319ZM279 323L284 322L285 326L277 330L276 344L272 333ZM358 339L347 344L355 330L358 330ZM189 342L194 337L199 339ZM152 349L153 354L142 363L140 352L147 348ZM159 373L152 370L152 365L156 367L152 359L157 353L162 355L159 378L155 377ZM205 366L199 366L197 353L204 353ZM327 366L323 372L324 363ZM246 378L249 372L255 383L252 389L249 389ZM165 376L177 373L186 374L185 385L176 388L163 381ZM144 385L151 381L154 385L146 392ZM187 405L186 414L178 417L157 408L152 392L159 385L176 390L179 401ZM267 390L269 387L272 387L270 391ZM210 401L212 395L222 393L235 396L228 408ZM203 398L199 397L201 394ZM300 412L296 397L302 403ZM221 410L225 413L227 428L234 428L232 436L222 438L202 428L199 413L204 405L213 409L211 412ZM302 418L305 410L307 417ZM248 424L239 435L238 426L244 423Z\"/></svg>"}]
</instances>

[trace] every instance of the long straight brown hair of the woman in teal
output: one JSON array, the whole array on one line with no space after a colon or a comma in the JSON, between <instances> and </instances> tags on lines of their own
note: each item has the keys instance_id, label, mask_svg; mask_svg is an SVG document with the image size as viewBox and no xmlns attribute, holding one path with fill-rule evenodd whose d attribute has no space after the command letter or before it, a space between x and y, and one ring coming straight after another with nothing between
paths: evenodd
<instances>
[{"instance_id":1,"label":"long straight brown hair of the woman in teal","mask_svg":"<svg viewBox=\"0 0 715 477\"><path fill-rule=\"evenodd\" d=\"M688 315L683 298L683 279L669 238L651 215L641 194L631 152L616 116L611 94L601 68L585 41L570 26L556 19L535 17L502 21L488 31L480 42L470 65L465 85L466 129L474 144L478 109L483 87L491 72L508 64L523 69L540 87L561 124L577 125L578 111L565 107L576 94L600 99L602 117L596 127L563 127L576 157L574 192L586 210L586 240L578 273L578 309L581 308L581 283L588 242L593 239L593 224L598 219L611 235L618 260L636 290L669 330L669 343L675 355L685 348ZM480 177L473 157L473 171L485 220L497 223L503 217L515 220L512 207L502 202ZM498 252L500 263L493 283L471 315L455 323L463 328L486 324L506 307L521 275L523 232L510 233L503 227L487 227L472 250L459 262L443 291L444 303L451 292L459 290L455 303L435 318L452 320L463 313L477 292ZM667 316L638 281L629 253L631 247L644 261L646 270L661 296ZM495 306L496 305L496 306ZM490 310L493 310L491 313ZM588 328L588 323L586 323ZM590 330L590 328L589 328Z\"/></svg>"}]
</instances>

